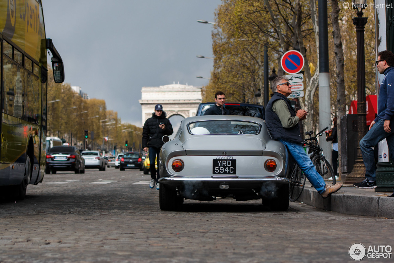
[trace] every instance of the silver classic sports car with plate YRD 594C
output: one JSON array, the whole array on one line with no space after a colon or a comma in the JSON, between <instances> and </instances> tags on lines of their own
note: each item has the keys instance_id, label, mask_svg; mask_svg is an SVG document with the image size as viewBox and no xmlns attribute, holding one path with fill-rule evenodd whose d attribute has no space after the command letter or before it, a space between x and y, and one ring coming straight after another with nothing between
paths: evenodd
<instances>
[{"instance_id":1,"label":"silver classic sports car with plate YRD 594C","mask_svg":"<svg viewBox=\"0 0 394 263\"><path fill-rule=\"evenodd\" d=\"M264 120L249 116L189 117L160 151L160 209L184 199L262 199L288 209L285 148L271 139Z\"/></svg>"}]
</instances>

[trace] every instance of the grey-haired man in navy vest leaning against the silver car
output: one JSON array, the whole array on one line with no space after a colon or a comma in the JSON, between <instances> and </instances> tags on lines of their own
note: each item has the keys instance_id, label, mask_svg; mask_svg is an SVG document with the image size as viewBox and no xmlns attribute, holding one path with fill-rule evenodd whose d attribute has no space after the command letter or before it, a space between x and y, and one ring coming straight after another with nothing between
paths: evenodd
<instances>
[{"instance_id":1,"label":"grey-haired man in navy vest leaning against the silver car","mask_svg":"<svg viewBox=\"0 0 394 263\"><path fill-rule=\"evenodd\" d=\"M297 112L293 109L287 98L292 94L291 87L289 79L285 76L274 79L272 86L274 95L266 106L266 125L273 139L286 146L312 186L323 198L327 198L331 193L337 192L342 184L337 183L333 186L325 184L323 177L316 171L309 156L305 153L301 145L302 138L298 123L307 118L308 113L303 109ZM286 159L288 159L287 156Z\"/></svg>"}]
</instances>

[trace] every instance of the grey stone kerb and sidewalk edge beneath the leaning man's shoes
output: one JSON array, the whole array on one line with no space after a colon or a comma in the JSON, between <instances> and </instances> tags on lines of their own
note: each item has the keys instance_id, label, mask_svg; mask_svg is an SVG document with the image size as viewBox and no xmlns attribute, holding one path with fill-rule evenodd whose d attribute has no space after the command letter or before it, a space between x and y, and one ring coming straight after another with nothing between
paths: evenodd
<instances>
[{"instance_id":1,"label":"grey stone kerb and sidewalk edge beneath the leaning man's shoes","mask_svg":"<svg viewBox=\"0 0 394 263\"><path fill-rule=\"evenodd\" d=\"M394 197L388 197L391 194L392 192L375 192L375 189L359 189L352 184L345 184L338 192L323 199L307 180L297 201L342 214L394 218Z\"/></svg>"}]
</instances>

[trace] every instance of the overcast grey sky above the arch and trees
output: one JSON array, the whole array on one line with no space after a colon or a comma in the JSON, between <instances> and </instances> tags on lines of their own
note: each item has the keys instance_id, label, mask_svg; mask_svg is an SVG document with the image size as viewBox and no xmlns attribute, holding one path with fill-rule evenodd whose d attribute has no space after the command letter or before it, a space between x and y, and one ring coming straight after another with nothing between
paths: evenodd
<instances>
[{"instance_id":1,"label":"overcast grey sky above the arch and trees","mask_svg":"<svg viewBox=\"0 0 394 263\"><path fill-rule=\"evenodd\" d=\"M122 122L141 123L141 88L210 77L220 0L42 0L46 38L63 58L65 83L103 99ZM152 112L154 109L152 109ZM165 111L165 109L164 109Z\"/></svg>"}]
</instances>

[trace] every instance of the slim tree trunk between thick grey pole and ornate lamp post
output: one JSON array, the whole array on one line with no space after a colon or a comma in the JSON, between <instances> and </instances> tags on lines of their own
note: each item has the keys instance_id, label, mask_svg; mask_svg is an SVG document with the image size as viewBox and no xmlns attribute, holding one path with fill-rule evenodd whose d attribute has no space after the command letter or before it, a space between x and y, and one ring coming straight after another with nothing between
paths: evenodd
<instances>
[{"instance_id":1,"label":"slim tree trunk between thick grey pole and ornate lamp post","mask_svg":"<svg viewBox=\"0 0 394 263\"><path fill-rule=\"evenodd\" d=\"M346 114L346 96L345 96L345 80L344 80L344 52L342 49L341 32L339 26L338 0L331 0L333 11L331 12L331 22L333 23L334 53L336 62L336 105L337 105L337 127L338 127L338 176L342 175L341 161L341 117Z\"/></svg>"}]
</instances>

